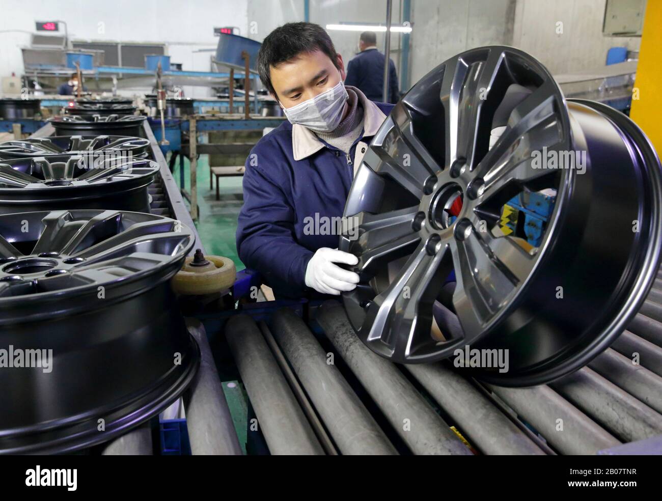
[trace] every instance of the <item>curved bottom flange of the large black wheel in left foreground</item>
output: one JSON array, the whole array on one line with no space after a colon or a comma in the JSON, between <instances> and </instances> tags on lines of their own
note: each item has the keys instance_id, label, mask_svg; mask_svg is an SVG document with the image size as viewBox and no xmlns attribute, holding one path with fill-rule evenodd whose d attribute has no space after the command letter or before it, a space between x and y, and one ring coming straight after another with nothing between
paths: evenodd
<instances>
[{"instance_id":1,"label":"curved bottom flange of the large black wheel in left foreground","mask_svg":"<svg viewBox=\"0 0 662 501\"><path fill-rule=\"evenodd\" d=\"M168 377L160 385L152 388L150 392L140 396L138 402L132 402L129 406L121 404L113 409L113 416L117 416L106 423L103 433L97 432L97 418L100 414L90 410L86 414L92 414L86 420L77 420L73 424L65 422L62 426L57 424L44 428L43 425L32 427L30 432L26 430L13 430L11 434L3 437L5 439L21 439L30 433L28 439L20 445L13 447L0 447L0 455L5 454L55 454L68 453L85 449L99 443L105 443L114 439L140 425L142 422L157 416L170 406L183 392L193 383L193 379L199 371L201 363L200 348L193 336L189 336L189 363L183 366L183 370L177 377ZM174 374L174 373L173 373ZM68 416L69 418L69 416ZM68 419L67 418L67 419ZM60 420L60 421L64 421ZM34 430L37 428L37 430ZM81 432L81 428L83 431ZM2 443L0 441L0 443Z\"/></svg>"}]
</instances>

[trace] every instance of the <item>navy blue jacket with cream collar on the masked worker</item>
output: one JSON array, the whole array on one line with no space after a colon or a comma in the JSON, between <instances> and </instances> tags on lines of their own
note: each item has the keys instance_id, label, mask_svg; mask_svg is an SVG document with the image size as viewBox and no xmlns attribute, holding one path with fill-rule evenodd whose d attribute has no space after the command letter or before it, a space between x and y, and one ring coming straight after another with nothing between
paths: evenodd
<instances>
[{"instance_id":1,"label":"navy blue jacket with cream collar on the masked worker","mask_svg":"<svg viewBox=\"0 0 662 501\"><path fill-rule=\"evenodd\" d=\"M246 267L260 271L279 297L316 296L305 285L308 261L319 248L337 248L340 238L337 232L307 234L307 218L342 216L354 163L393 108L371 103L354 90L365 122L349 158L307 128L285 121L261 138L246 159L237 250Z\"/></svg>"}]
</instances>

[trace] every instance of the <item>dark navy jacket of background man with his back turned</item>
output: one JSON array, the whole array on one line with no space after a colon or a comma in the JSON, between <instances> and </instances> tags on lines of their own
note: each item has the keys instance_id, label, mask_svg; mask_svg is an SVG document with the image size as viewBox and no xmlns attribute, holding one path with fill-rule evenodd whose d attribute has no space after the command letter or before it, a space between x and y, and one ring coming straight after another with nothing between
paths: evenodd
<instances>
[{"instance_id":1,"label":"dark navy jacket of background man with his back turned","mask_svg":"<svg viewBox=\"0 0 662 501\"><path fill-rule=\"evenodd\" d=\"M389 103L400 100L395 64L389 60ZM359 52L347 65L345 85L361 89L371 101L381 101L384 93L384 54L375 49Z\"/></svg>"}]
</instances>

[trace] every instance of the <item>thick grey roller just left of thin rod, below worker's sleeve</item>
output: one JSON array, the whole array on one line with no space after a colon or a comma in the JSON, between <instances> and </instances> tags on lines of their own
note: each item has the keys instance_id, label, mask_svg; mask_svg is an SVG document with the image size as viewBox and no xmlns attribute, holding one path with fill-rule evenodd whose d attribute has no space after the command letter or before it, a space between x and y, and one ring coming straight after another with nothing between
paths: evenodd
<instances>
[{"instance_id":1,"label":"thick grey roller just left of thin rod, below worker's sleeve","mask_svg":"<svg viewBox=\"0 0 662 501\"><path fill-rule=\"evenodd\" d=\"M228 320L225 336L272 455L323 455L324 449L250 316Z\"/></svg>"}]
</instances>

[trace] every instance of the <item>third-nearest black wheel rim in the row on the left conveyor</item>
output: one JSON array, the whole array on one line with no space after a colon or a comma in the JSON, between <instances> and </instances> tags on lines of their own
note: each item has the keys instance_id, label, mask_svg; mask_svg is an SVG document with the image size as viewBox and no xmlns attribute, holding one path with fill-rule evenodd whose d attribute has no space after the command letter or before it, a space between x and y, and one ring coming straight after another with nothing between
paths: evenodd
<instances>
[{"instance_id":1,"label":"third-nearest black wheel rim in the row on the left conveyor","mask_svg":"<svg viewBox=\"0 0 662 501\"><path fill-rule=\"evenodd\" d=\"M150 142L131 136L51 136L0 143L0 160L26 157L62 157L90 152L127 152L131 158L144 158Z\"/></svg>"}]
</instances>

